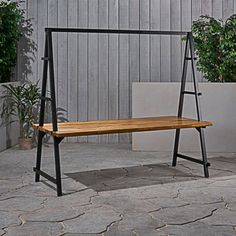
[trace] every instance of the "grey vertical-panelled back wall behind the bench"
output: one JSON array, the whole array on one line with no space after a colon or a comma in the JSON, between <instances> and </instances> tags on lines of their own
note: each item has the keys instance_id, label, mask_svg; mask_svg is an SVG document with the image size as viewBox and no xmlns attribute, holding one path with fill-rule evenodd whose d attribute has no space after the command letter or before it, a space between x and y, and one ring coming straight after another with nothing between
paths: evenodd
<instances>
[{"instance_id":1,"label":"grey vertical-panelled back wall behind the bench","mask_svg":"<svg viewBox=\"0 0 236 236\"><path fill-rule=\"evenodd\" d=\"M226 19L236 0L27 0L38 44L31 80L42 77L44 27L190 30L202 14ZM57 104L70 121L131 117L131 83L179 81L179 36L55 34ZM70 141L129 142L129 134Z\"/></svg>"}]
</instances>

